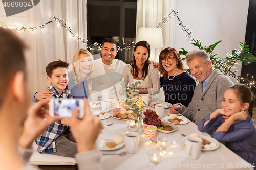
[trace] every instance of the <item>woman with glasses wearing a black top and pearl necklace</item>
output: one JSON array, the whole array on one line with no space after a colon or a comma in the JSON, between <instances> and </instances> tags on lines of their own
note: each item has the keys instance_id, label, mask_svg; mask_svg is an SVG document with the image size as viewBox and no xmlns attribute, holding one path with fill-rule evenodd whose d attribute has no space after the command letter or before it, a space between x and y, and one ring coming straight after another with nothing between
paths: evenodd
<instances>
[{"instance_id":1,"label":"woman with glasses wearing a black top and pearl necklace","mask_svg":"<svg viewBox=\"0 0 256 170\"><path fill-rule=\"evenodd\" d=\"M165 48L159 55L160 86L163 87L165 102L181 103L188 106L191 102L196 82L186 72L180 54L174 48Z\"/></svg>"}]
</instances>

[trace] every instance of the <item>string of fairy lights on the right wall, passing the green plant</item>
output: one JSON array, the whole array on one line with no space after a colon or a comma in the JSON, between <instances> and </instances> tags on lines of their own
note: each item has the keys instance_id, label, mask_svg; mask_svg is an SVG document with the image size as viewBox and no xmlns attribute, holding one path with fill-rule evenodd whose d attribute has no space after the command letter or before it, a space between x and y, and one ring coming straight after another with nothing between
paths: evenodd
<instances>
[{"instance_id":1,"label":"string of fairy lights on the right wall, passing the green plant","mask_svg":"<svg viewBox=\"0 0 256 170\"><path fill-rule=\"evenodd\" d=\"M167 17L163 17L163 18L161 18L161 20L162 20L162 22L161 23L158 23L158 26L157 26L157 28L163 28L163 24L166 24L167 22L168 22L168 18L173 18L173 17L177 17L177 19L178 19L178 21L179 21L179 23L177 24L178 26L180 26L181 27L181 31L182 32L186 32L186 37L187 38L190 38L191 40L190 40L190 42L195 42L196 44L198 44L198 45L201 45L201 40L200 39L194 39L193 38L193 36L191 35L191 34L193 34L193 32L192 31L190 31L190 29L187 29L187 26L184 26L183 25L183 23L182 23L182 20L178 17L178 14L179 14L179 11L178 12L175 12L173 9L170 9L171 10L171 12L169 13L169 14L167 14ZM213 60L215 60L215 62L216 62L216 65L217 66L220 66L221 68L222 68L222 70L225 70L225 71L228 71L229 72L229 75L228 75L228 77L231 79L231 78L234 78L234 79L236 79L236 77L237 77L237 82L238 81L240 81L240 80L243 80L243 81L246 81L246 83L245 84L250 84L250 85L254 85L254 82L252 82L252 79L253 79L253 76L252 76L252 79L251 79L251 81L248 79L248 74L247 74L247 79L245 79L245 78L242 78L241 76L239 76L239 75L236 75L235 73L237 72L237 71L231 71L231 70L229 70L229 69L227 69L221 62L219 62L216 58L214 58L214 57L212 57L212 55L211 54L209 54L209 56L210 56L210 58L211 59L213 59ZM231 76L231 77L230 77ZM251 88L251 86L249 86L250 88ZM256 86L254 86L255 88L256 88Z\"/></svg>"}]
</instances>

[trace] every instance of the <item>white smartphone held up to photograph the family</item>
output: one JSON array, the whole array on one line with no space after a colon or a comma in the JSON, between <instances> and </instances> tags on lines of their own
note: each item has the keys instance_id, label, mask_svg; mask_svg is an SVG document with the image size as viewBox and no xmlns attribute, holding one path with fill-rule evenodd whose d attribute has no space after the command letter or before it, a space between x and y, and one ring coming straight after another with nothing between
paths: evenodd
<instances>
[{"instance_id":1,"label":"white smartphone held up to photograph the family","mask_svg":"<svg viewBox=\"0 0 256 170\"><path fill-rule=\"evenodd\" d=\"M50 116L72 117L73 109L77 106L78 118L84 116L83 99L51 99L49 103Z\"/></svg>"}]
</instances>

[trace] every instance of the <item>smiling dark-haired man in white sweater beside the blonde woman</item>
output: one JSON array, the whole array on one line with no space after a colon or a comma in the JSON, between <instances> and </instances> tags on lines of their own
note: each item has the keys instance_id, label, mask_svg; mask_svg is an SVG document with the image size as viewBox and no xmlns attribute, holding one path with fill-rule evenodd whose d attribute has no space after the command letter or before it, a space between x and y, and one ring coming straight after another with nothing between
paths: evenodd
<instances>
[{"instance_id":1,"label":"smiling dark-haired man in white sweater beside the blonde woman","mask_svg":"<svg viewBox=\"0 0 256 170\"><path fill-rule=\"evenodd\" d=\"M117 42L113 38L106 38L102 42L102 58L94 60L95 78L92 81L92 89L110 90L110 94L116 94L120 89L122 70L126 65L123 61L115 59L117 55Z\"/></svg>"}]
</instances>

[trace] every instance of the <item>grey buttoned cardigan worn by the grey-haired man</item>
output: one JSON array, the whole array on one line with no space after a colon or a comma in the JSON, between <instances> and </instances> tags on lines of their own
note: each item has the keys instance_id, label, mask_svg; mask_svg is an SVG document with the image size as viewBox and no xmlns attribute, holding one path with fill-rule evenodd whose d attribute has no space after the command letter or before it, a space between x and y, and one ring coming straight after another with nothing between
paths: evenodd
<instances>
[{"instance_id":1,"label":"grey buttoned cardigan worn by the grey-haired man","mask_svg":"<svg viewBox=\"0 0 256 170\"><path fill-rule=\"evenodd\" d=\"M179 104L181 105L179 113L198 125L204 117L222 108L223 94L231 85L233 82L227 76L222 74L220 70L215 70L212 72L204 93L201 84L198 84L188 107Z\"/></svg>"}]
</instances>

